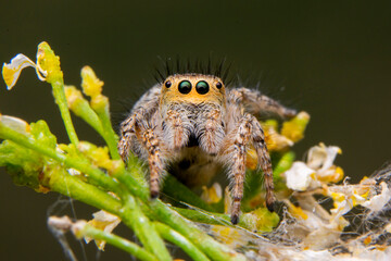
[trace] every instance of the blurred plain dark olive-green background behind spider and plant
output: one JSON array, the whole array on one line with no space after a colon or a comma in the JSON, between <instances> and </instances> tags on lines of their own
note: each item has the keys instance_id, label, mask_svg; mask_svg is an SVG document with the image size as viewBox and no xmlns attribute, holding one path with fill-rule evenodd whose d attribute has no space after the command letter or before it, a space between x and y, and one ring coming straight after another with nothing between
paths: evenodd
<instances>
[{"instance_id":1,"label":"blurred plain dark olive-green background behind spider and plant","mask_svg":"<svg viewBox=\"0 0 391 261\"><path fill-rule=\"evenodd\" d=\"M319 141L337 145L337 164L353 181L391 158L390 33L390 1L0 1L1 62L20 52L35 60L46 40L67 84L79 85L81 66L92 66L121 112L153 83L159 57L226 57L249 87L261 79L261 90L311 114L299 159ZM50 87L31 69L12 91L0 83L0 112L45 119L66 141ZM76 129L101 142L77 120ZM46 226L48 214L71 214L58 199L14 186L0 170L0 260L65 260ZM75 207L78 217L90 216L90 208ZM83 260L79 246L73 249ZM128 258L111 247L99 254L93 245L87 257Z\"/></svg>"}]
</instances>

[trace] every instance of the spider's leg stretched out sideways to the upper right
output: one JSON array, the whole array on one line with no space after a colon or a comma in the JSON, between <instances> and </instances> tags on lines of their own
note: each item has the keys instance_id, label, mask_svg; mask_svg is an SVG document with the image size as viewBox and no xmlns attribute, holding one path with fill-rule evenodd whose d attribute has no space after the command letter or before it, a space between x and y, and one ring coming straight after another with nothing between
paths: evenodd
<instances>
[{"instance_id":1,"label":"spider's leg stretched out sideways to the upper right","mask_svg":"<svg viewBox=\"0 0 391 261\"><path fill-rule=\"evenodd\" d=\"M298 114L295 110L283 107L278 101L262 95L258 90L238 88L230 91L231 99L241 102L249 113L270 113L280 117L293 117Z\"/></svg>"}]
</instances>

